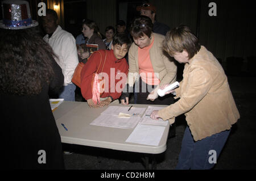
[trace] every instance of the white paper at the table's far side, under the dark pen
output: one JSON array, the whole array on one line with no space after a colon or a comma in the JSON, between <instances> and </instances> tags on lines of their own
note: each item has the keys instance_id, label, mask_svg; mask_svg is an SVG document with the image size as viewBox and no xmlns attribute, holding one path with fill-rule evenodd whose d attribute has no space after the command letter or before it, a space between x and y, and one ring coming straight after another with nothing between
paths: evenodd
<instances>
[{"instance_id":1,"label":"white paper at the table's far side, under the dark pen","mask_svg":"<svg viewBox=\"0 0 256 181\"><path fill-rule=\"evenodd\" d=\"M125 113L129 115L139 114L142 115L146 108L142 107L120 107L120 106L109 106L105 111L101 112L101 115L119 115L119 113Z\"/></svg>"}]
</instances>

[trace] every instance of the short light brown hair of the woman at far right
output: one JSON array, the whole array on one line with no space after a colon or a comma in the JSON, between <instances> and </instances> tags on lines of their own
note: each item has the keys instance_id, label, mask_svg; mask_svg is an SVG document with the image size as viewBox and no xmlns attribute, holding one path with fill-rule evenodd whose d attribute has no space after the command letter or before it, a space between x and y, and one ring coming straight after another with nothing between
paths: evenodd
<instances>
[{"instance_id":1,"label":"short light brown hair of the woman at far right","mask_svg":"<svg viewBox=\"0 0 256 181\"><path fill-rule=\"evenodd\" d=\"M192 31L180 25L166 33L163 49L174 57L175 52L188 52L188 58L191 59L200 50L199 39L192 33Z\"/></svg>"}]
</instances>

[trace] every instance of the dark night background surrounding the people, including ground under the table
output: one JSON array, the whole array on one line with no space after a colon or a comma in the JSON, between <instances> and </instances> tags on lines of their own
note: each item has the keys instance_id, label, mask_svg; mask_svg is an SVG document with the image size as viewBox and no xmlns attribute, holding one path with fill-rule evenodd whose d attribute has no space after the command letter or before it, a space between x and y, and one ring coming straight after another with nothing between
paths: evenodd
<instances>
[{"instance_id":1,"label":"dark night background surrounding the people, including ground under the table","mask_svg":"<svg viewBox=\"0 0 256 181\"><path fill-rule=\"evenodd\" d=\"M59 4L59 24L74 37L81 33L81 20L94 20L104 35L105 27L118 19L129 24L138 15L134 0L27 0L32 19L39 20L38 3ZM152 0L156 6L156 20L170 28L179 24L189 26L204 45L216 56L228 75L229 85L241 119L233 126L229 139L214 169L256 169L256 11L254 1L221 0ZM217 5L217 16L209 16L210 2ZM2 9L0 10L2 19ZM179 65L178 81L182 79L183 65ZM184 132L184 117L178 117L176 137L167 142L167 151L159 155L158 169L173 169L177 163ZM64 149L69 145L64 144ZM70 149L70 148L69 148ZM143 169L141 163L131 161L133 153L71 146L75 150L65 155L67 169ZM114 155L113 155L114 152ZM164 158L164 159L163 159ZM84 160L84 161L82 161Z\"/></svg>"}]
</instances>

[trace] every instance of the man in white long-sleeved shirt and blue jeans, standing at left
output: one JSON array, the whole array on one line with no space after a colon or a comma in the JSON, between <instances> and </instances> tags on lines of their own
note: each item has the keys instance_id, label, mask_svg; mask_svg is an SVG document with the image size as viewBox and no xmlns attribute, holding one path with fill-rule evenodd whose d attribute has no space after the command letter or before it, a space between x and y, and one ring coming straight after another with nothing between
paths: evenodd
<instances>
[{"instance_id":1,"label":"man in white long-sleeved shirt and blue jeans, standing at left","mask_svg":"<svg viewBox=\"0 0 256 181\"><path fill-rule=\"evenodd\" d=\"M71 82L71 79L79 63L76 40L71 33L63 30L57 24L57 13L54 10L47 9L46 16L43 16L42 22L43 28L47 33L43 39L51 45L57 55L55 61L59 64L64 75L63 91L59 94L59 98L75 101L76 86Z\"/></svg>"}]
</instances>

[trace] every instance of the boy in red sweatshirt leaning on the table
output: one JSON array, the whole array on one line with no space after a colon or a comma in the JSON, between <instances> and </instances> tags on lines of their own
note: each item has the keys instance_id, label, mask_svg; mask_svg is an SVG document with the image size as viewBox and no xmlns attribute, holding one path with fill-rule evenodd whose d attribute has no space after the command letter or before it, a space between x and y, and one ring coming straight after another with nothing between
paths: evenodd
<instances>
[{"instance_id":1,"label":"boy in red sweatshirt leaning on the table","mask_svg":"<svg viewBox=\"0 0 256 181\"><path fill-rule=\"evenodd\" d=\"M124 58L131 45L131 40L125 33L118 33L113 38L111 50L98 50L90 56L81 71L81 93L87 100L90 108L98 108L109 105L118 99L122 93L122 87L126 83L128 64ZM104 64L104 59L105 64ZM100 67L99 67L100 66ZM103 67L103 69L102 69ZM92 100L92 77L96 73L104 77L105 89L101 98L105 98L97 104Z\"/></svg>"}]
</instances>

